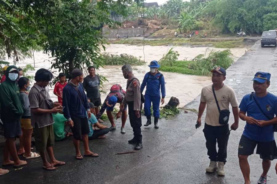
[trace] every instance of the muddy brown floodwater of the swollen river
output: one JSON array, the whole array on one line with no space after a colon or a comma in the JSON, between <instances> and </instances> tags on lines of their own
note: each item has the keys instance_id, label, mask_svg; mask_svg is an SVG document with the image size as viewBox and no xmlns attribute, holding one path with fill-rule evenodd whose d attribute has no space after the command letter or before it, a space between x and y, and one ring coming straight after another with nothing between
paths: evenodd
<instances>
[{"instance_id":1,"label":"muddy brown floodwater of the swollen river","mask_svg":"<svg viewBox=\"0 0 277 184\"><path fill-rule=\"evenodd\" d=\"M150 63L152 60L159 60L163 57L163 54L166 54L171 46L145 46L143 53L143 46L133 46L133 45L123 45L123 44L111 44L106 46L106 51L111 54L122 54L126 53L136 57L145 58L145 61ZM178 51L180 56L179 60L183 59L193 59L198 54L204 54L207 47L182 47L175 46L173 50ZM215 50L224 50L220 48L210 48ZM236 61L245 53L246 48L235 48L231 49L233 58ZM50 69L51 63L47 60L48 56L41 52L34 53L35 60L35 71L29 71L28 75L35 75L35 72L40 68ZM20 61L17 66L24 67L26 64L34 65L33 58L24 59ZM12 63L10 61L10 63ZM146 72L149 71L147 65L144 66L134 66L133 67L134 75L142 82L143 77ZM55 72L58 74L58 72ZM109 81L104 83L104 91L109 92L111 85L121 84L122 87L126 88L126 79L122 76L121 66L105 66L100 68L96 73L104 75ZM165 104L169 101L171 96L179 98L180 107L183 107L188 102L196 98L203 86L211 83L211 78L206 76L195 76L195 75L185 75L177 74L172 72L162 72L165 77L166 82L166 99ZM31 82L31 85L34 83L34 80ZM53 86L54 87L54 86ZM54 100L57 100L57 97L53 94L53 88L49 86L50 96ZM106 95L101 94L102 101L105 99Z\"/></svg>"}]
</instances>

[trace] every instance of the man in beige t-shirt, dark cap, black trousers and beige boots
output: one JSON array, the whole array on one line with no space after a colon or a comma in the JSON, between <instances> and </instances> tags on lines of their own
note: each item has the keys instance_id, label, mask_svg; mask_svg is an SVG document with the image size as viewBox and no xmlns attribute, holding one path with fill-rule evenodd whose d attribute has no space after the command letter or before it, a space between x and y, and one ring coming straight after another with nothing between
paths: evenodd
<instances>
[{"instance_id":1,"label":"man in beige t-shirt, dark cap, black trousers and beige boots","mask_svg":"<svg viewBox=\"0 0 277 184\"><path fill-rule=\"evenodd\" d=\"M206 147L208 149L209 159L211 160L207 172L214 172L218 169L218 175L225 175L224 165L227 158L227 144L229 139L229 117L223 119L225 124L219 123L219 109L229 110L229 104L232 106L232 111L235 118L235 123L231 125L232 130L239 127L239 104L234 90L225 85L223 81L226 79L226 71L222 67L216 67L211 70L212 82L208 86L203 87L200 98L199 114L197 123L201 125L201 117L207 105L207 113L205 118L205 127L203 129L206 138ZM218 101L219 109L215 101L215 96ZM222 123L222 122L221 122ZM218 144L218 151L216 150ZM217 166L218 165L218 166Z\"/></svg>"}]
</instances>

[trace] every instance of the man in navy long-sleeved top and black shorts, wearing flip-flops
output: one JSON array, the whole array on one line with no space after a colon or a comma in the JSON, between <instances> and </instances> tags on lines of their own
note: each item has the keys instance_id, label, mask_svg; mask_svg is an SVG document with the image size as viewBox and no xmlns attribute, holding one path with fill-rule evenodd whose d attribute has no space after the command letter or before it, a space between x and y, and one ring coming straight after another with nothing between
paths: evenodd
<instances>
[{"instance_id":1,"label":"man in navy long-sleeved top and black shorts, wearing flip-flops","mask_svg":"<svg viewBox=\"0 0 277 184\"><path fill-rule=\"evenodd\" d=\"M91 117L91 112L82 86L84 75L82 70L74 69L71 72L71 76L72 79L63 88L62 106L64 108L63 115L69 122L73 133L76 159L83 159L79 148L80 140L84 143L84 156L98 157L98 154L90 151L88 145L88 133L90 132L90 128L87 117Z\"/></svg>"}]
</instances>

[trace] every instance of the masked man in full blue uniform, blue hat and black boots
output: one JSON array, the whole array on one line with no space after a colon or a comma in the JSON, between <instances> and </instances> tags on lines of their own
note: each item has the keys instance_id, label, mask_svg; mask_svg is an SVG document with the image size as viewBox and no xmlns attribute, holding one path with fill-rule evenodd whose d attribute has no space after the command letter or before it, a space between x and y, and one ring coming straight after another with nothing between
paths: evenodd
<instances>
[{"instance_id":1,"label":"masked man in full blue uniform, blue hat and black boots","mask_svg":"<svg viewBox=\"0 0 277 184\"><path fill-rule=\"evenodd\" d=\"M162 105L164 103L165 98L165 82L163 74L158 71L160 65L157 61L151 61L150 72L147 72L144 76L143 83L141 85L140 91L143 92L144 87L146 86L146 92L144 95L145 103L144 103L144 114L147 117L147 122L144 126L151 125L151 102L153 105L153 116L154 116L154 126L155 128L159 128L158 120L160 117L159 105L161 99L162 92Z\"/></svg>"}]
</instances>

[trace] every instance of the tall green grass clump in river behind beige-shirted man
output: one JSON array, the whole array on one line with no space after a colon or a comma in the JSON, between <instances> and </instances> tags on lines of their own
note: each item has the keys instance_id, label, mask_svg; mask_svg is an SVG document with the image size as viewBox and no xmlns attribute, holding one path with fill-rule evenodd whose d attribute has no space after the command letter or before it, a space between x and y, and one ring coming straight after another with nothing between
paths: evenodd
<instances>
[{"instance_id":1,"label":"tall green grass clump in river behind beige-shirted man","mask_svg":"<svg viewBox=\"0 0 277 184\"><path fill-rule=\"evenodd\" d=\"M160 71L169 71L190 75L210 75L211 69L221 66L225 69L230 67L234 60L229 49L224 51L206 50L205 54L199 54L192 60L179 61L175 58L178 52L172 49L159 61ZM171 58L171 59L167 59Z\"/></svg>"}]
</instances>

